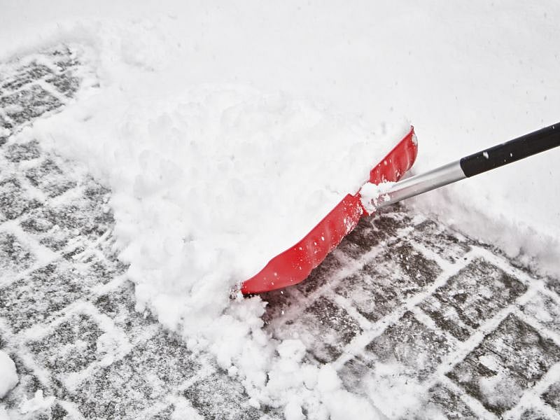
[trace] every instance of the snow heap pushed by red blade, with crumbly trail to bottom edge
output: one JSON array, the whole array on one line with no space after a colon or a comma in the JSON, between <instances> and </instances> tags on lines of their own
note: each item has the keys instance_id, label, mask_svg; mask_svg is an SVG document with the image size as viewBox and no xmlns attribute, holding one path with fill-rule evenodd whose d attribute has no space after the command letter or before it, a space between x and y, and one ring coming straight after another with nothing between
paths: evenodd
<instances>
[{"instance_id":1,"label":"snow heap pushed by red blade, with crumbly trail to bottom edge","mask_svg":"<svg viewBox=\"0 0 560 420\"><path fill-rule=\"evenodd\" d=\"M283 343L262 331L260 298L230 295L356 193L409 123L380 115L383 123L367 126L288 94L190 85L151 55L166 43L143 25L84 25L66 36L87 45L81 59L97 75L63 113L19 139L79 158L111 187L137 309L151 309L193 351L214 353L253 405L297 397L328 416L323 395L346 394L318 387L303 347L286 360Z\"/></svg>"}]
</instances>

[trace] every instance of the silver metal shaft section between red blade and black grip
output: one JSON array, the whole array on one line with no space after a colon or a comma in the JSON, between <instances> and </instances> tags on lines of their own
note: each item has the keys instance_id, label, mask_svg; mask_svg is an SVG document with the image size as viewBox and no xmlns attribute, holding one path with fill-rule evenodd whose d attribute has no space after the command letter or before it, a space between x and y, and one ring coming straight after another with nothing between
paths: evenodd
<instances>
[{"instance_id":1,"label":"silver metal shaft section between red blade and black grip","mask_svg":"<svg viewBox=\"0 0 560 420\"><path fill-rule=\"evenodd\" d=\"M435 188L447 186L447 184L465 179L466 176L459 162L457 160L425 174L411 176L395 183L391 190L383 194L383 197L388 196L388 200L378 200L375 207L381 209L381 207L390 206L400 202L400 200L405 200L405 198L414 197L415 195L426 193L426 191L435 190Z\"/></svg>"}]
</instances>

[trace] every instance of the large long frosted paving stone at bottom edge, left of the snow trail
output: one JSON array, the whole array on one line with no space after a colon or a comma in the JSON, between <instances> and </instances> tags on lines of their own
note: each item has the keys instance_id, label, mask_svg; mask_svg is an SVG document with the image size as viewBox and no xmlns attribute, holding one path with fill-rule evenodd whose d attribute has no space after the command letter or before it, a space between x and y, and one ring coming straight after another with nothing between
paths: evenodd
<instances>
[{"instance_id":1,"label":"large long frosted paving stone at bottom edge, left of the snow trail","mask_svg":"<svg viewBox=\"0 0 560 420\"><path fill-rule=\"evenodd\" d=\"M198 370L186 346L160 332L88 377L69 398L86 419L137 419Z\"/></svg>"}]
</instances>

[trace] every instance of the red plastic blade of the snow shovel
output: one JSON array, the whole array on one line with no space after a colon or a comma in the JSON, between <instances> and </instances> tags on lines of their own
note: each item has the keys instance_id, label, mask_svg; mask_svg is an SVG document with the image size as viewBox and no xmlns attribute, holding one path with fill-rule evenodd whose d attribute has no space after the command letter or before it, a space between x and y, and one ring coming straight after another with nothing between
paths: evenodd
<instances>
[{"instance_id":1,"label":"red plastic blade of the snow shovel","mask_svg":"<svg viewBox=\"0 0 560 420\"><path fill-rule=\"evenodd\" d=\"M370 172L370 182L398 181L414 164L418 146L414 127ZM241 286L241 293L262 293L293 286L307 279L311 270L356 228L367 211L360 202L360 193L346 195L330 213L294 246L276 255L268 264Z\"/></svg>"}]
</instances>

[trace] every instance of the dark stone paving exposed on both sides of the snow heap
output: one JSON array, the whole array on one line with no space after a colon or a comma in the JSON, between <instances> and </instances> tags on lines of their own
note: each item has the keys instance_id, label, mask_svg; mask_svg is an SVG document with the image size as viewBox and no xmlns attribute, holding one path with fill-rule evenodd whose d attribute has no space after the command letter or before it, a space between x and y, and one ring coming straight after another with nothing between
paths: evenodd
<instances>
[{"instance_id":1,"label":"dark stone paving exposed on both sides of the snow heap","mask_svg":"<svg viewBox=\"0 0 560 420\"><path fill-rule=\"evenodd\" d=\"M82 67L65 46L0 67L0 349L20 376L0 404L14 419L281 418L134 311L111 192L11 137L73 100ZM363 220L307 281L262 297L274 337L390 419L560 419L560 281L421 215ZM37 390L55 402L22 414Z\"/></svg>"}]
</instances>

